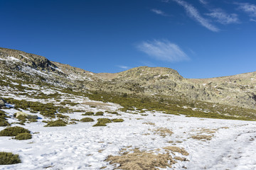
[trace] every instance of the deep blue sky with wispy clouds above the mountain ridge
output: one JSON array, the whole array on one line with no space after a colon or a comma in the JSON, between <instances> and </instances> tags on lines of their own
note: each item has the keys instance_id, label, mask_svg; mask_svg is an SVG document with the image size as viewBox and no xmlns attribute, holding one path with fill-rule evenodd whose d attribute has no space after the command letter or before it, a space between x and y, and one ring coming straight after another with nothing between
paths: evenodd
<instances>
[{"instance_id":1,"label":"deep blue sky with wispy clouds above the mountain ridge","mask_svg":"<svg viewBox=\"0 0 256 170\"><path fill-rule=\"evenodd\" d=\"M255 72L256 1L0 0L0 47L90 72Z\"/></svg>"}]
</instances>

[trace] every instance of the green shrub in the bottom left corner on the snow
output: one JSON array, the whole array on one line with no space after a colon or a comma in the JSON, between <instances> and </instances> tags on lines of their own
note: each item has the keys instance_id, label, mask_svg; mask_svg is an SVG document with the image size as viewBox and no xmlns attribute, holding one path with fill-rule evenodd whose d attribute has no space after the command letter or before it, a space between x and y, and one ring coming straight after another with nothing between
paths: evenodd
<instances>
[{"instance_id":1,"label":"green shrub in the bottom left corner on the snow","mask_svg":"<svg viewBox=\"0 0 256 170\"><path fill-rule=\"evenodd\" d=\"M13 154L11 152L0 152L0 165L18 163L21 163L21 159L19 159L18 154Z\"/></svg>"}]
</instances>

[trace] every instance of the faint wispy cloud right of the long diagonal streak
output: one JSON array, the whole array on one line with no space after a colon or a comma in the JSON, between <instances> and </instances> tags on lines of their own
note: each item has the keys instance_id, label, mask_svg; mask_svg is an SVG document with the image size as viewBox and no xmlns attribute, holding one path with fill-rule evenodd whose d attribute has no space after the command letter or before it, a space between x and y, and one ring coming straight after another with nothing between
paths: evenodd
<instances>
[{"instance_id":1,"label":"faint wispy cloud right of the long diagonal streak","mask_svg":"<svg viewBox=\"0 0 256 170\"><path fill-rule=\"evenodd\" d=\"M206 15L215 18L219 23L222 24L239 23L237 14L228 14L222 9L215 9L213 12L206 13Z\"/></svg>"}]
</instances>

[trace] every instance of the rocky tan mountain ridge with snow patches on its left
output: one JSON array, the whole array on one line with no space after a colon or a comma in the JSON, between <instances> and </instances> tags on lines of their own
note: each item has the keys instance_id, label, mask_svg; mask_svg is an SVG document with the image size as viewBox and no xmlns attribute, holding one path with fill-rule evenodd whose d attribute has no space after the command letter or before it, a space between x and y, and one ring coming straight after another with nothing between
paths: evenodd
<instances>
[{"instance_id":1,"label":"rocky tan mountain ridge with snow patches on its left","mask_svg":"<svg viewBox=\"0 0 256 170\"><path fill-rule=\"evenodd\" d=\"M124 72L92 73L46 57L0 48L1 75L13 74L79 91L106 91L142 96L171 96L256 109L256 72L210 79L186 79L164 67L137 67Z\"/></svg>"}]
</instances>

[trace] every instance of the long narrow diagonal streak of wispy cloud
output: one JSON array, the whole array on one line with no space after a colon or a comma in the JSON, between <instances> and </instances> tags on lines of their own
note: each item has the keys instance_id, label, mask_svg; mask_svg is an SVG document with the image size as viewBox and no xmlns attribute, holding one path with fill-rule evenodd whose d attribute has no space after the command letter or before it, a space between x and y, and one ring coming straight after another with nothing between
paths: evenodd
<instances>
[{"instance_id":1,"label":"long narrow diagonal streak of wispy cloud","mask_svg":"<svg viewBox=\"0 0 256 170\"><path fill-rule=\"evenodd\" d=\"M219 31L219 29L213 26L213 24L211 24L210 21L208 21L206 18L203 18L203 16L201 16L198 10L195 7L193 7L191 4L188 4L186 1L182 1L182 0L173 0L173 1L183 6L183 8L185 8L186 12L188 13L188 16L198 21L198 23L200 23L201 26L204 26L214 32Z\"/></svg>"}]
</instances>

